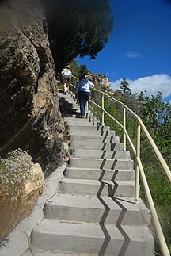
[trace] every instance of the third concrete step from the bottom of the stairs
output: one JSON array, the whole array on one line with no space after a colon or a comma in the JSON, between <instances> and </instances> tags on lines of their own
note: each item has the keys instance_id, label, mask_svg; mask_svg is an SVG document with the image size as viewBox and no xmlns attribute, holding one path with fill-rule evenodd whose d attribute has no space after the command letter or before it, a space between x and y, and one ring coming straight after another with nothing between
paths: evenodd
<instances>
[{"instance_id":1,"label":"third concrete step from the bottom of the stairs","mask_svg":"<svg viewBox=\"0 0 171 256\"><path fill-rule=\"evenodd\" d=\"M61 193L108 197L133 197L134 187L135 184L133 181L95 181L63 178L59 188Z\"/></svg>"}]
</instances>

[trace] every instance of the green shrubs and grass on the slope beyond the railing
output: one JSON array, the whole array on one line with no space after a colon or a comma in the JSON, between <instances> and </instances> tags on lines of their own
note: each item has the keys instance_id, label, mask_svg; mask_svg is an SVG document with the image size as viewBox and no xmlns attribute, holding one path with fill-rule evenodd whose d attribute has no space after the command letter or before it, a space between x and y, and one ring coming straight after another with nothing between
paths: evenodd
<instances>
[{"instance_id":1,"label":"green shrubs and grass on the slope beyond the railing","mask_svg":"<svg viewBox=\"0 0 171 256\"><path fill-rule=\"evenodd\" d=\"M161 155L164 157L171 169L171 104L169 101L162 101L161 92L158 92L156 97L152 96L150 98L146 95L146 92L141 92L139 95L131 94L131 90L129 90L127 86L128 83L126 79L123 79L120 85L120 90L116 90L114 94L110 92L109 95L115 97L119 101L122 101L137 113L139 117L141 117L147 130L154 139L154 142L157 144L158 149L161 151ZM92 99L97 102L98 105L101 105L101 95L99 93L93 91ZM91 105L91 109L97 117L101 117L101 109L98 109L94 105ZM105 97L105 110L123 124L122 107L117 105L108 97ZM116 130L116 134L120 135L122 139L122 128L108 117L107 114L105 114L105 124ZM136 145L136 122L128 113L127 132L134 145ZM127 145L127 150L131 151L129 145ZM131 157L133 159L133 155ZM154 199L154 204L161 221L161 227L165 235L166 243L168 244L169 251L171 252L171 189L150 149L149 143L143 134L141 134L141 159L146 178L150 186L150 191ZM140 193L143 201L146 202L146 196L142 185ZM157 239L156 255L161 255Z\"/></svg>"}]
</instances>

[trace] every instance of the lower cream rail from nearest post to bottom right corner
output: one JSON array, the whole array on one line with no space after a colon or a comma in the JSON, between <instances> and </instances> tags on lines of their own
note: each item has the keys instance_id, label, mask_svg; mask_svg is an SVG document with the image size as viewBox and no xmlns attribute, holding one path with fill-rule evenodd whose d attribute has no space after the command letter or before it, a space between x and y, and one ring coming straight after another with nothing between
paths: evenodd
<instances>
[{"instance_id":1,"label":"lower cream rail from nearest post to bottom right corner","mask_svg":"<svg viewBox=\"0 0 171 256\"><path fill-rule=\"evenodd\" d=\"M152 216L154 227L155 227L156 233L158 235L158 243L159 243L159 246L161 248L161 254L162 254L162 256L170 256L168 246L165 243L165 237L164 237L163 232L161 230L161 224L158 220L158 214L157 214L155 206L154 206L154 201L153 201L153 198L151 197L150 189L149 189L148 183L146 181L146 175L144 174L144 170L143 170L143 167L142 167L142 162L139 158L137 158L137 162L138 162L138 165L139 165L139 170L140 170L144 190L145 190L145 193L146 193L146 199L147 199L148 204L149 204L150 213L151 213L151 216Z\"/></svg>"}]
</instances>

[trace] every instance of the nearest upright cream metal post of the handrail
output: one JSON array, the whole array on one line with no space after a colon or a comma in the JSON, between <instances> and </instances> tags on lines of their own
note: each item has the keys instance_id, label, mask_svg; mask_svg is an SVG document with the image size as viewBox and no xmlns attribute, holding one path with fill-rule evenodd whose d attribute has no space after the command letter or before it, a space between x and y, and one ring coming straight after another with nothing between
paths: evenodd
<instances>
[{"instance_id":1,"label":"nearest upright cream metal post of the handrail","mask_svg":"<svg viewBox=\"0 0 171 256\"><path fill-rule=\"evenodd\" d=\"M137 141L136 141L136 166L135 166L135 204L139 204L139 165L137 159L140 157L140 138L141 126L137 124Z\"/></svg>"}]
</instances>

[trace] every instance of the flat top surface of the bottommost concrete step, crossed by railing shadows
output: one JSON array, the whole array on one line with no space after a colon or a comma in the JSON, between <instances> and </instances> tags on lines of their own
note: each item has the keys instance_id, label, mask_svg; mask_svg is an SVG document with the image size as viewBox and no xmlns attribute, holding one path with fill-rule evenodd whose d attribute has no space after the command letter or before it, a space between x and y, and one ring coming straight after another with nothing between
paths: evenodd
<instances>
[{"instance_id":1,"label":"flat top surface of the bottommost concrete step, crossed by railing shadows","mask_svg":"<svg viewBox=\"0 0 171 256\"><path fill-rule=\"evenodd\" d=\"M110 239L121 239L124 241L124 235L121 234L120 228L134 241L146 241L146 239L149 239L148 236L150 236L150 231L146 225L137 227L120 224L105 224L105 228L108 231L108 235L110 235ZM53 219L42 220L41 224L33 229L33 233L33 235L42 233L44 235L52 234L105 239L101 224L76 223Z\"/></svg>"}]
</instances>

